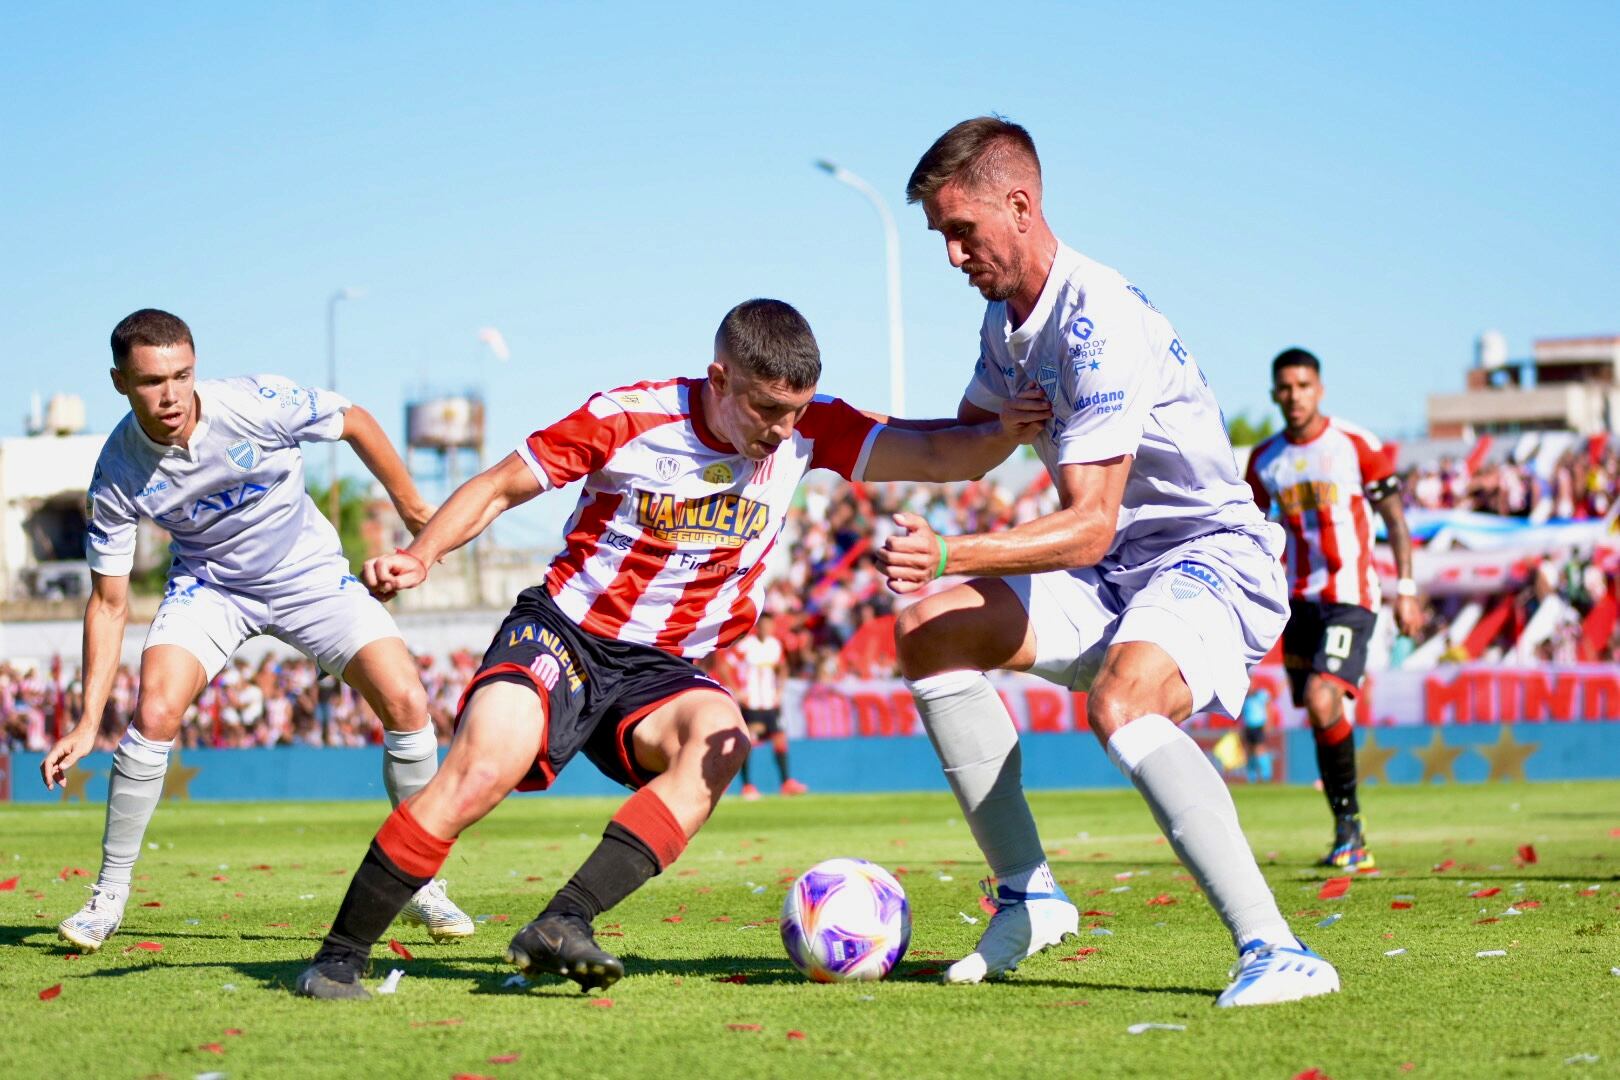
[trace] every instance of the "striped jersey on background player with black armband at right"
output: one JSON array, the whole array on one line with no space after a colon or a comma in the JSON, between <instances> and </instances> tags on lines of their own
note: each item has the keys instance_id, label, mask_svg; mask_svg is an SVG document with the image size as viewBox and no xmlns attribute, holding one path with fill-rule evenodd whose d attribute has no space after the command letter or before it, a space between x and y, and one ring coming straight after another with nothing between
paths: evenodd
<instances>
[{"instance_id":1,"label":"striped jersey on background player with black armband at right","mask_svg":"<svg viewBox=\"0 0 1620 1080\"><path fill-rule=\"evenodd\" d=\"M1278 432L1257 445L1246 479L1260 508L1275 507L1288 529L1283 562L1294 597L1379 610L1366 487L1395 470L1372 432L1325 419L1315 439Z\"/></svg>"}]
</instances>

